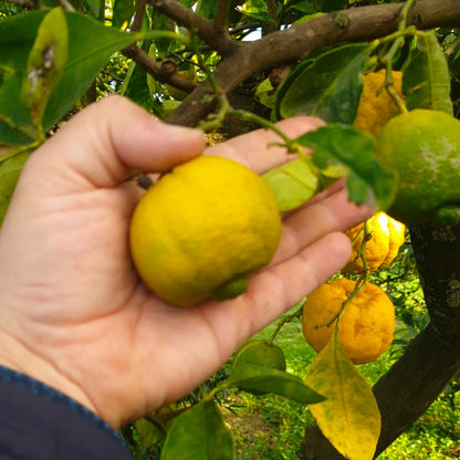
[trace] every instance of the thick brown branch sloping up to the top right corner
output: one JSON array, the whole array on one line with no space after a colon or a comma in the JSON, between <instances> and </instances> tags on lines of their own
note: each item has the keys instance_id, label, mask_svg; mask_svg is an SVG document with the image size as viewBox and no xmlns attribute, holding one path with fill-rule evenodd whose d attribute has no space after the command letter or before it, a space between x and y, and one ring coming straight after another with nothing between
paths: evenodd
<instances>
[{"instance_id":1,"label":"thick brown branch sloping up to the top right corner","mask_svg":"<svg viewBox=\"0 0 460 460\"><path fill-rule=\"evenodd\" d=\"M222 92L228 93L249 76L280 62L306 58L312 51L324 46L366 42L385 36L397 30L398 17L404 3L352 8L330 13L288 30L278 31L254 42L240 43L229 56L223 58L215 72ZM341 23L338 23L341 22ZM343 24L346 25L343 25ZM407 23L418 29L460 25L458 0L419 0L408 14ZM196 126L216 107L209 101L212 95L207 84L197 90L172 113L168 122ZM203 102L205 101L205 102Z\"/></svg>"}]
</instances>

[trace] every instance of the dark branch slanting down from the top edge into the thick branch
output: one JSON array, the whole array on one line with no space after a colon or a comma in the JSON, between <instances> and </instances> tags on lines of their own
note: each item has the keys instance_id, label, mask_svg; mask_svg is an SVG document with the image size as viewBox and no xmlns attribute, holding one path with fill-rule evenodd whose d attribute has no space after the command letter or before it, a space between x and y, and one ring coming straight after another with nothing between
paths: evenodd
<instances>
[{"instance_id":1,"label":"dark branch slanting down from the top edge into the thick branch","mask_svg":"<svg viewBox=\"0 0 460 460\"><path fill-rule=\"evenodd\" d=\"M213 21L202 18L178 0L148 0L148 2L179 25L191 30L222 56L231 55L237 50L238 44L231 40L227 31L216 33Z\"/></svg>"}]
</instances>

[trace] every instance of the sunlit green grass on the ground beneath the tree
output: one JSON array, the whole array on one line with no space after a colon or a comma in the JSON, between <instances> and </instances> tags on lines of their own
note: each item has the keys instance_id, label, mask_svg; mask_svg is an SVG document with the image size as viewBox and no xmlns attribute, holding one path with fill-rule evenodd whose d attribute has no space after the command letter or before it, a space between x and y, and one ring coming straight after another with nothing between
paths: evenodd
<instances>
[{"instance_id":1,"label":"sunlit green grass on the ground beneath the tree","mask_svg":"<svg viewBox=\"0 0 460 460\"><path fill-rule=\"evenodd\" d=\"M269 338L275 325L270 325L257 337ZM285 324L274 343L284 351L288 372L305 377L315 353L303 338L300 321ZM376 362L358 367L370 385L390 367L395 351L390 347ZM237 406L234 414L224 410L224 415L236 438L238 460L297 460L305 426L313 422L307 408L273 395L255 397L238 391L231 399ZM458 394L450 401L438 398L378 460L460 458L460 417L449 402L460 407Z\"/></svg>"}]
</instances>

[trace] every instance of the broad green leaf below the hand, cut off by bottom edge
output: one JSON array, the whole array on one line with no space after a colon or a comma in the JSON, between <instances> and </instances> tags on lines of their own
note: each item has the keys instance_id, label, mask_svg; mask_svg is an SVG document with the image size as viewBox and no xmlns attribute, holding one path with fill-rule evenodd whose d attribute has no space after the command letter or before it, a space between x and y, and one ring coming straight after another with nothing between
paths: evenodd
<instances>
[{"instance_id":1,"label":"broad green leaf below the hand, cut off by bottom edge","mask_svg":"<svg viewBox=\"0 0 460 460\"><path fill-rule=\"evenodd\" d=\"M201 401L176 417L161 460L234 460L234 441L216 404Z\"/></svg>"}]
</instances>

